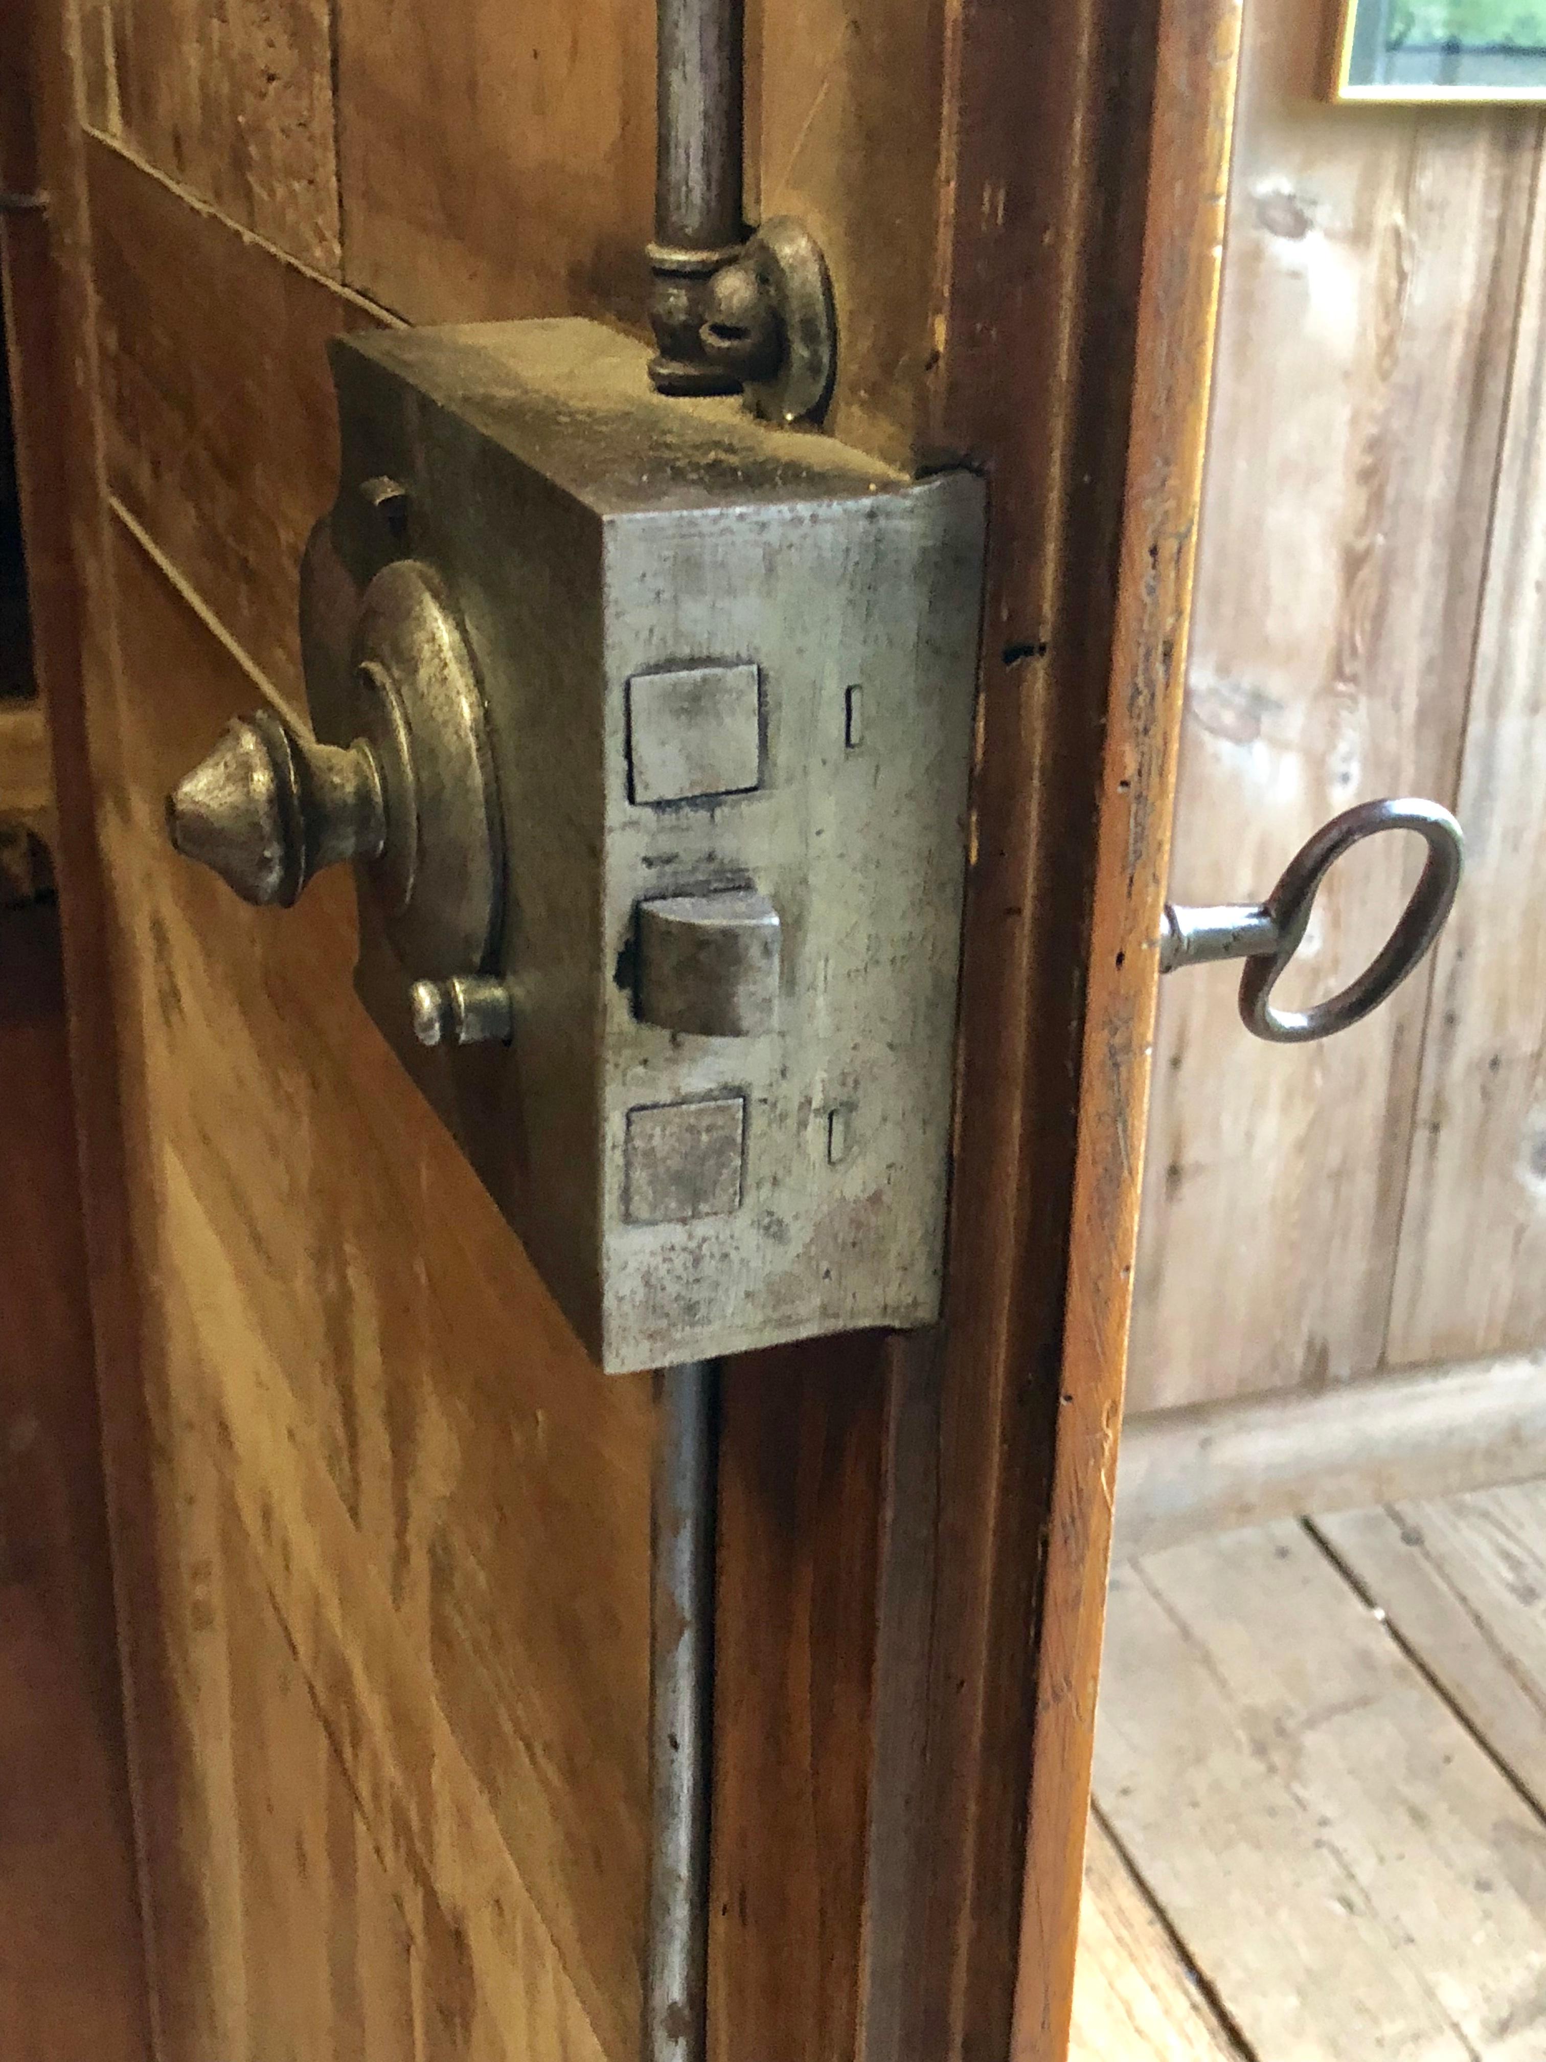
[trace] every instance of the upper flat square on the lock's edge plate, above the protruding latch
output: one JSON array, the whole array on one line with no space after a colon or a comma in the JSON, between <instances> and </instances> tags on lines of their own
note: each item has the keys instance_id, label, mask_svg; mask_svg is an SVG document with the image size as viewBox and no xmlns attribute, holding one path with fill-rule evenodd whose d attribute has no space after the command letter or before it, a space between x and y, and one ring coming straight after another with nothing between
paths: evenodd
<instances>
[{"instance_id":1,"label":"upper flat square on the lock's edge plate, above the protruding latch","mask_svg":"<svg viewBox=\"0 0 1546 2062\"><path fill-rule=\"evenodd\" d=\"M684 666L629 680L629 800L746 794L763 769L757 666Z\"/></svg>"}]
</instances>

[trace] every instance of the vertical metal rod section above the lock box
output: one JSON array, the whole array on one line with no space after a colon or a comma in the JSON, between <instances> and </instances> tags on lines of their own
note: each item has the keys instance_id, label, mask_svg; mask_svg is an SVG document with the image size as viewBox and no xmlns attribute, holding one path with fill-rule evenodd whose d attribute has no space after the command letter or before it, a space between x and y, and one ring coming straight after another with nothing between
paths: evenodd
<instances>
[{"instance_id":1,"label":"vertical metal rod section above the lock box","mask_svg":"<svg viewBox=\"0 0 1546 2062\"><path fill-rule=\"evenodd\" d=\"M656 243L726 254L742 223L744 0L658 0Z\"/></svg>"}]
</instances>

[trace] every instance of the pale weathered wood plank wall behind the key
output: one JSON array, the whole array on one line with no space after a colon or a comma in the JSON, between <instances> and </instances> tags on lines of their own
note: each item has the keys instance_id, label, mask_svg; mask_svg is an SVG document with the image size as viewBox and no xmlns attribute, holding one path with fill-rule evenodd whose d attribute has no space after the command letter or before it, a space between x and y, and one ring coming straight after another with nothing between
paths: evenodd
<instances>
[{"instance_id":1,"label":"pale weathered wood plank wall behind the key","mask_svg":"<svg viewBox=\"0 0 1546 2062\"><path fill-rule=\"evenodd\" d=\"M1540 118L1315 105L1319 33L1247 0L1171 893L1259 895L1398 792L1472 866L1323 1045L1247 1037L1229 969L1165 984L1132 1410L1546 1338ZM1332 878L1295 1000L1379 942L1404 843Z\"/></svg>"}]
</instances>

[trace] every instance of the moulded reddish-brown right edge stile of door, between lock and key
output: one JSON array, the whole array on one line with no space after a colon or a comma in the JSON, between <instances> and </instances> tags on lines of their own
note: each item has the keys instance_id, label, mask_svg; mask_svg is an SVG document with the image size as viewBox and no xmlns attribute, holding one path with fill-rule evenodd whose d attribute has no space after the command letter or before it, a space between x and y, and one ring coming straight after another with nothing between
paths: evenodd
<instances>
[{"instance_id":1,"label":"moulded reddish-brown right edge stile of door, between lock and key","mask_svg":"<svg viewBox=\"0 0 1546 2062\"><path fill-rule=\"evenodd\" d=\"M1031 12L952 23L934 429L992 540L950 1301L888 1369L868 2062L1068 2046L1239 66L1239 0Z\"/></svg>"}]
</instances>

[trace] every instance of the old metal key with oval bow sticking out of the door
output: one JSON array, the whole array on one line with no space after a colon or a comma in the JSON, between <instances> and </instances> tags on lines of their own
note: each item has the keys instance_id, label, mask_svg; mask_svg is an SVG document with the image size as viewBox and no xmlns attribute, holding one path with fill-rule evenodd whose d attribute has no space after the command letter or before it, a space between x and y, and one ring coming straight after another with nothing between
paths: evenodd
<instances>
[{"instance_id":1,"label":"old metal key with oval bow sticking out of the door","mask_svg":"<svg viewBox=\"0 0 1546 2062\"><path fill-rule=\"evenodd\" d=\"M1429 847L1396 930L1340 994L1309 1010L1276 1008L1272 990L1301 946L1321 880L1344 852L1379 831L1416 831ZM1466 837L1437 802L1360 802L1323 823L1299 847L1266 901L1216 907L1167 903L1161 920L1161 973L1216 959L1243 959L1239 1004L1247 1031L1282 1045L1332 1037L1377 1010L1422 961L1449 918L1464 858Z\"/></svg>"}]
</instances>

